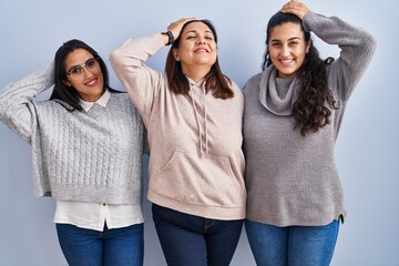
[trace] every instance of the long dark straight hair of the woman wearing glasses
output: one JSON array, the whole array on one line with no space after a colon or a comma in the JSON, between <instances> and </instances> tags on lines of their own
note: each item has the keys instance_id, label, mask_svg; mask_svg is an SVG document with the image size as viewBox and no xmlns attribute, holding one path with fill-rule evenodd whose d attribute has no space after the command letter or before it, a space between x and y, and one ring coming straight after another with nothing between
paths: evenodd
<instances>
[{"instance_id":1,"label":"long dark straight hair of the woman wearing glasses","mask_svg":"<svg viewBox=\"0 0 399 266\"><path fill-rule=\"evenodd\" d=\"M88 52L90 52L91 54L93 54L94 58L98 59L98 61L100 63L100 69L101 69L101 72L102 72L103 79L104 79L104 89L103 90L109 89L109 91L111 91L111 92L117 92L117 91L113 90L112 88L110 88L110 85L109 85L109 82L110 82L109 72L106 70L106 65L105 65L104 61L101 59L99 53L94 49L89 47L86 43L84 43L83 41L72 39L70 41L64 42L55 52L54 90L52 91L51 96L50 96L50 100L61 100L61 101L68 103L70 106L65 106L64 104L63 104L63 106L65 106L70 111L82 110L82 106L79 104L80 98L79 98L76 89L73 86L66 86L63 82L66 79L65 68L64 68L66 57L76 49L84 49Z\"/></svg>"}]
</instances>

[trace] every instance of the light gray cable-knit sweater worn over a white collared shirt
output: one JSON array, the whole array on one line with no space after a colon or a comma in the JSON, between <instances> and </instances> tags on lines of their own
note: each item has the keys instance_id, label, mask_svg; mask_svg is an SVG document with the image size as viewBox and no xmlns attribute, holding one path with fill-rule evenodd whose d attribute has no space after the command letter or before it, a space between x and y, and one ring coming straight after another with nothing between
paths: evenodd
<instances>
[{"instance_id":1,"label":"light gray cable-knit sweater worn over a white collared shirt","mask_svg":"<svg viewBox=\"0 0 399 266\"><path fill-rule=\"evenodd\" d=\"M141 204L143 124L127 94L111 93L105 108L89 112L33 101L52 76L50 66L0 91L0 121L32 145L34 194Z\"/></svg>"}]
</instances>

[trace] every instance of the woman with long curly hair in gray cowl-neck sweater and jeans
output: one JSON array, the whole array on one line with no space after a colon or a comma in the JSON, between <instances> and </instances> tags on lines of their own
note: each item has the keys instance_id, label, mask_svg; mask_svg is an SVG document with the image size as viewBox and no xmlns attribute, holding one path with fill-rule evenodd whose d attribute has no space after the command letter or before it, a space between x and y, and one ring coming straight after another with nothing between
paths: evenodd
<instances>
[{"instance_id":1,"label":"woman with long curly hair in gray cowl-neck sweater and jeans","mask_svg":"<svg viewBox=\"0 0 399 266\"><path fill-rule=\"evenodd\" d=\"M321 60L310 31L339 58ZM376 40L293 0L269 20L266 45L244 88L249 244L257 265L329 265L346 215L334 145Z\"/></svg>"}]
</instances>

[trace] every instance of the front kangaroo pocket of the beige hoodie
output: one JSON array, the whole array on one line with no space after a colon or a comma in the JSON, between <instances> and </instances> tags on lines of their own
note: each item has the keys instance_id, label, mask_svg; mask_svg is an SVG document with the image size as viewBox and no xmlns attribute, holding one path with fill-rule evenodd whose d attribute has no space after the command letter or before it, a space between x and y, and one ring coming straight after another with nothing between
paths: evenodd
<instances>
[{"instance_id":1,"label":"front kangaroo pocket of the beige hoodie","mask_svg":"<svg viewBox=\"0 0 399 266\"><path fill-rule=\"evenodd\" d=\"M174 201L212 206L245 204L243 176L234 174L227 157L174 151L153 178L156 192Z\"/></svg>"}]
</instances>

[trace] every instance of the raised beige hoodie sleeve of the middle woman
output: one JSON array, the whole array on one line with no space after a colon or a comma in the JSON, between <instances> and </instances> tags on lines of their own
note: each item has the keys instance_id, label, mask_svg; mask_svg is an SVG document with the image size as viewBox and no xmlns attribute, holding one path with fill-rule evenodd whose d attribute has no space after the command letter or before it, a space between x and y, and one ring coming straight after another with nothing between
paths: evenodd
<instances>
[{"instance_id":1,"label":"raised beige hoodie sleeve of the middle woman","mask_svg":"<svg viewBox=\"0 0 399 266\"><path fill-rule=\"evenodd\" d=\"M150 37L130 39L110 54L110 62L116 76L126 89L134 105L146 123L155 96L167 86L166 76L147 65L145 61L163 48L160 32Z\"/></svg>"}]
</instances>

